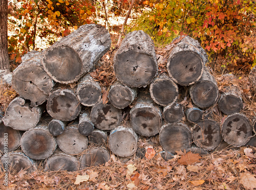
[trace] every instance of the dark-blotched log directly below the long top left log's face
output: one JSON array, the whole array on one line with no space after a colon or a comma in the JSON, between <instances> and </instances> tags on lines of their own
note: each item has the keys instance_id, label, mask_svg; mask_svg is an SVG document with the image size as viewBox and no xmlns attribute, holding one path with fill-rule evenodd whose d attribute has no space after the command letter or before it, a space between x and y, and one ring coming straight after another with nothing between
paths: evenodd
<instances>
[{"instance_id":1,"label":"dark-blotched log directly below the long top left log's face","mask_svg":"<svg viewBox=\"0 0 256 190\"><path fill-rule=\"evenodd\" d=\"M81 105L71 89L56 89L50 93L46 108L53 118L61 121L72 121L81 111Z\"/></svg>"}]
</instances>

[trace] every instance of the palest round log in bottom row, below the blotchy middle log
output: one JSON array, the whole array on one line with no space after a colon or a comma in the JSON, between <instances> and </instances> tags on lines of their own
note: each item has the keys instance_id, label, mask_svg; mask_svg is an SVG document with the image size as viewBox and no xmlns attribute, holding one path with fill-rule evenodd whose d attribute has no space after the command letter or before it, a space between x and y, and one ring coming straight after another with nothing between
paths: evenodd
<instances>
[{"instance_id":1,"label":"palest round log in bottom row, below the blotchy middle log","mask_svg":"<svg viewBox=\"0 0 256 190\"><path fill-rule=\"evenodd\" d=\"M119 126L110 132L109 148L117 156L132 156L137 151L138 135L131 127Z\"/></svg>"}]
</instances>

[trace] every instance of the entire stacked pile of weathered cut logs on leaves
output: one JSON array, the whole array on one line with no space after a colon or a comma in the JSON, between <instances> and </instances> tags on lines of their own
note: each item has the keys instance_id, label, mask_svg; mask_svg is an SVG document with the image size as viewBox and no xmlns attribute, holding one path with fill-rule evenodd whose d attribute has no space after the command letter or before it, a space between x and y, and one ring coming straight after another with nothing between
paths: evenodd
<instances>
[{"instance_id":1,"label":"entire stacked pile of weathered cut logs on leaves","mask_svg":"<svg viewBox=\"0 0 256 190\"><path fill-rule=\"evenodd\" d=\"M19 97L0 124L0 137L8 133L14 170L31 171L35 160L45 160L46 171L76 171L104 164L111 153L145 154L138 147L142 136L159 137L164 159L180 150L207 154L223 140L234 147L255 146L256 122L252 128L239 113L240 89L229 85L219 90L198 41L174 39L163 73L152 39L142 31L127 34L113 59L117 81L109 86L108 102L90 72L110 45L107 30L84 25L48 49L23 57L12 78ZM215 120L213 111L222 120ZM4 153L4 140L0 150Z\"/></svg>"}]
</instances>

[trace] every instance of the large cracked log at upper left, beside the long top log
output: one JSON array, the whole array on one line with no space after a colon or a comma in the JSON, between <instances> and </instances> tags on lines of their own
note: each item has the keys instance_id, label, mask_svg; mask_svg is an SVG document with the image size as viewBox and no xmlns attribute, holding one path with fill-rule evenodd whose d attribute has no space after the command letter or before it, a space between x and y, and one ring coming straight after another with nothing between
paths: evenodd
<instances>
[{"instance_id":1,"label":"large cracked log at upper left, beside the long top log","mask_svg":"<svg viewBox=\"0 0 256 190\"><path fill-rule=\"evenodd\" d=\"M22 57L22 63L13 71L13 88L20 97L30 100L31 106L44 103L55 85L41 64L43 53L29 52Z\"/></svg>"}]
</instances>

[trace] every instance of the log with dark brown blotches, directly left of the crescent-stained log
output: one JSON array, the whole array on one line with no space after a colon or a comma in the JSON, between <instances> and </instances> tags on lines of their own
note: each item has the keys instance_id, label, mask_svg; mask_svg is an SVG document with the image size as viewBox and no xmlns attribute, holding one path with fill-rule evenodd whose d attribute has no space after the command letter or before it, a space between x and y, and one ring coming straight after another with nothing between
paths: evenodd
<instances>
[{"instance_id":1,"label":"log with dark brown blotches, directly left of the crescent-stained log","mask_svg":"<svg viewBox=\"0 0 256 190\"><path fill-rule=\"evenodd\" d=\"M122 118L120 109L112 104L103 104L101 101L95 104L91 110L91 120L95 127L101 130L111 130L116 128Z\"/></svg>"}]
</instances>

